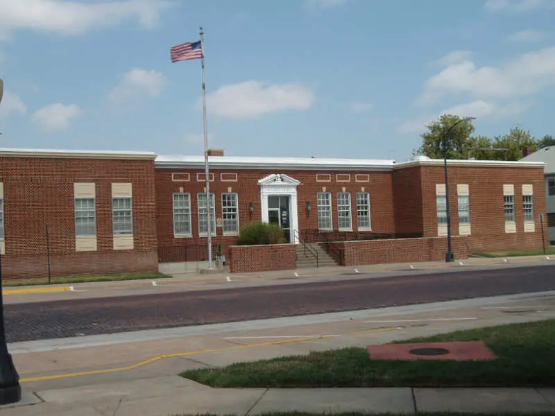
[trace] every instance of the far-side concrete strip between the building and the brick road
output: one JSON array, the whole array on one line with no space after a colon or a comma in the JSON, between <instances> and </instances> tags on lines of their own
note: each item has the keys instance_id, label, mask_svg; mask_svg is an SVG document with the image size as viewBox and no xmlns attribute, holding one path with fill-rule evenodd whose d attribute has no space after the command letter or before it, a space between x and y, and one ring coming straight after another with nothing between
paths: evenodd
<instances>
[{"instance_id":1,"label":"far-side concrete strip between the building and the brick road","mask_svg":"<svg viewBox=\"0 0 555 416\"><path fill-rule=\"evenodd\" d=\"M147 291L153 288L164 291L198 291L229 288L237 284L248 286L266 286L271 284L296 284L308 281L330 281L339 279L368 279L370 277L391 277L397 275L418 275L429 272L452 272L472 268L498 268L498 267L525 267L555 263L554 257L527 256L503 258L470 258L457 260L454 263L445 261L418 262L418 263L388 263L363 266L329 266L323 268L302 268L297 270L278 270L270 272L252 272L232 275L228 272L220 274L201 275L187 274L174 275L167 279L151 280L123 280L123 281L97 281L76 284L55 284L36 286L5 287L6 303L19 302L23 295L34 295L35 300L56 300L56 295L63 294L61 299L67 299L69 292L84 293L78 297L95 297L101 295L100 291ZM96 292L95 292L96 291ZM133 293L117 293L126 295ZM138 294L138 293L137 293ZM37 297L40 295L40 297ZM113 296L111 294L110 296Z\"/></svg>"}]
</instances>

